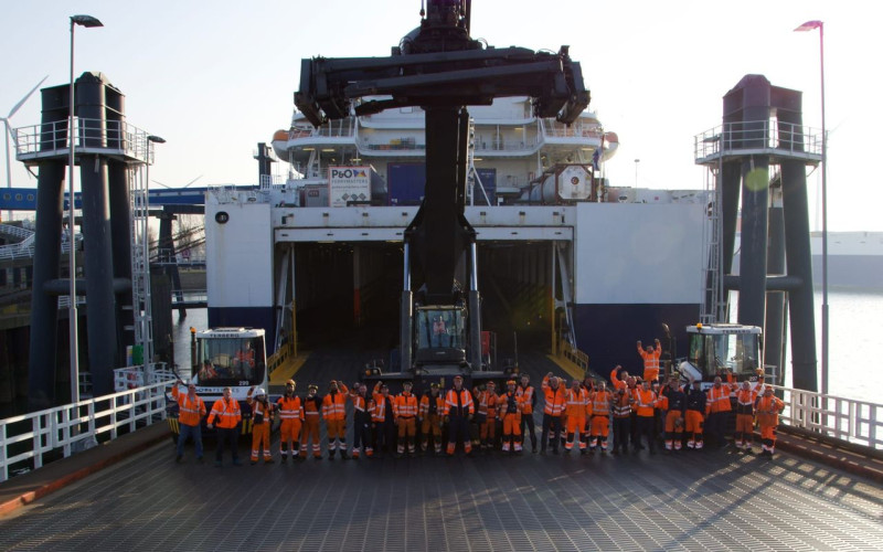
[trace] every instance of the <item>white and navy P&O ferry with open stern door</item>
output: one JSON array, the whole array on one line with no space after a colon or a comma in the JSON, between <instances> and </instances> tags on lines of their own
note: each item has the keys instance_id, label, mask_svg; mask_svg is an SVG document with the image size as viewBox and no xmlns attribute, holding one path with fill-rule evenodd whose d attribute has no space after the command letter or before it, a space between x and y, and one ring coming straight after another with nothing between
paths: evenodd
<instances>
[{"instance_id":1,"label":"white and navy P&O ferry with open stern door","mask_svg":"<svg viewBox=\"0 0 883 552\"><path fill-rule=\"evenodd\" d=\"M636 340L663 337L663 323L683 347L700 309L706 192L609 185L618 137L594 113L565 126L517 97L470 115L466 217L482 328L501 349L566 343L598 371L637 368ZM269 349L292 331L309 346L365 328L370 346L395 349L403 232L425 182L423 112L318 129L296 112L272 146L257 157L286 162L287 178L264 170L257 190L206 194L210 326L267 328Z\"/></svg>"}]
</instances>

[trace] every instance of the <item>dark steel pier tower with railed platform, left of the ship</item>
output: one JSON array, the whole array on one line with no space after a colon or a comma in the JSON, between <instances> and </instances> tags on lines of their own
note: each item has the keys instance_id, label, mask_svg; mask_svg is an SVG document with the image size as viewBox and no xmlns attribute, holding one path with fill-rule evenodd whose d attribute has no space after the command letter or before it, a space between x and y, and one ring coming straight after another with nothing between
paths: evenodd
<instances>
[{"instance_id":1,"label":"dark steel pier tower with railed platform, left of the ship","mask_svg":"<svg viewBox=\"0 0 883 552\"><path fill-rule=\"evenodd\" d=\"M66 384L56 382L58 297L67 296L70 272L63 278L62 242L76 243L75 229L64 229L64 182L70 157L68 131L74 132L79 166L85 278L76 278L76 295L86 297L88 367L94 393L113 391L113 369L125 362L126 346L137 331L132 254L139 240L134 227L132 188L143 188L136 170L150 162L146 131L128 124L125 96L100 73L83 73L75 82L73 128L68 85L43 88L42 121L18 129L17 159L36 167L36 229L34 238L30 410L57 403ZM72 199L73 200L73 199ZM146 201L145 199L140 201ZM139 203L140 205L140 203ZM141 209L141 211L143 211ZM137 255L136 255L137 256ZM140 270L137 270L140 272ZM139 276L140 278L140 276ZM143 284L143 283L141 283ZM71 300L71 299L68 299Z\"/></svg>"}]
</instances>

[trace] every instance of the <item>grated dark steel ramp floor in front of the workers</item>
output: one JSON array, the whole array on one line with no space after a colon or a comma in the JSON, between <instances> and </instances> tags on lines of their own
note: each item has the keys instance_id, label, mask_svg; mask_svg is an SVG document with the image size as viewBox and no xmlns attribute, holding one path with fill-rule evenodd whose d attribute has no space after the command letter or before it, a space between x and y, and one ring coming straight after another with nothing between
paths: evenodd
<instances>
[{"instance_id":1,"label":"grated dark steel ramp floor in front of the workers","mask_svg":"<svg viewBox=\"0 0 883 552\"><path fill-rule=\"evenodd\" d=\"M240 454L247 459L244 446ZM883 490L784 454L525 453L221 469L195 464L192 449L183 464L173 457L171 444L158 445L22 508L0 520L0 549L758 552L883 543Z\"/></svg>"}]
</instances>

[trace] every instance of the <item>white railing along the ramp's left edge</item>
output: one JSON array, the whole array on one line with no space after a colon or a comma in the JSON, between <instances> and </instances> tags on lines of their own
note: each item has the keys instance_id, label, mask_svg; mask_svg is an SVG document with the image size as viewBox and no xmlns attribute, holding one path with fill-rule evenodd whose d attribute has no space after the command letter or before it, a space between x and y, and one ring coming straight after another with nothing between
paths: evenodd
<instances>
[{"instance_id":1,"label":"white railing along the ramp's left edge","mask_svg":"<svg viewBox=\"0 0 883 552\"><path fill-rule=\"evenodd\" d=\"M0 481L13 470L38 469L44 461L66 458L99 437L115 439L121 428L131 433L139 425L164 421L168 384L157 376L148 386L0 421Z\"/></svg>"}]
</instances>

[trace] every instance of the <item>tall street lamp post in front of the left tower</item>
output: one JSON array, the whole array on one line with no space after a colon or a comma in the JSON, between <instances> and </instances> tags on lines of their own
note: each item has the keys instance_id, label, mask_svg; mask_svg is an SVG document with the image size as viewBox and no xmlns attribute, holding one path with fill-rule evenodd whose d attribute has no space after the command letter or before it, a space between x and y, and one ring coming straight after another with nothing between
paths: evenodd
<instances>
[{"instance_id":1,"label":"tall street lamp post in front of the left tower","mask_svg":"<svg viewBox=\"0 0 883 552\"><path fill-rule=\"evenodd\" d=\"M70 159L67 160L67 225L71 238L68 245L71 246L67 254L68 272L71 273L71 304L67 307L67 318L70 325L70 340L71 340L71 402L79 402L79 360L77 348L77 330L76 330L76 243L74 241L74 115L76 106L74 104L74 28L81 26L104 26L100 21L92 15L71 15L71 97L68 103L68 123L67 135L71 140Z\"/></svg>"}]
</instances>

